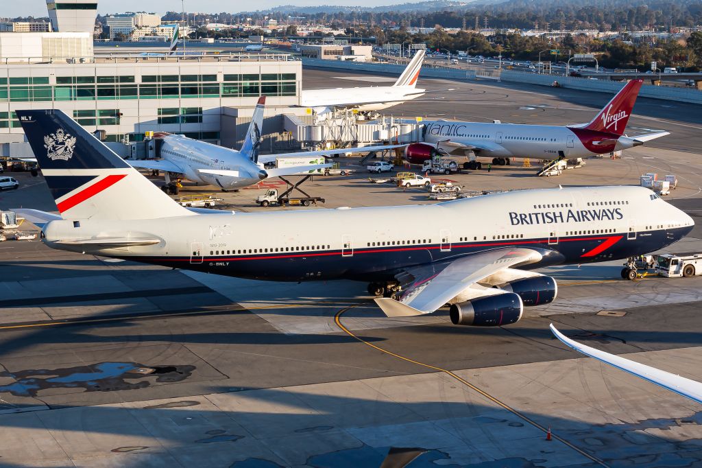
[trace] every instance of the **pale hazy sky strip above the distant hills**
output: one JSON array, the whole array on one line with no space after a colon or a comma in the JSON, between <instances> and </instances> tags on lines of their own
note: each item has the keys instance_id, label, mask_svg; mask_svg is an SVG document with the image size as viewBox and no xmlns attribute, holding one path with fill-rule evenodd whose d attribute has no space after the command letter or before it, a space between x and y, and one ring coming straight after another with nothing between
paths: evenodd
<instances>
[{"instance_id":1,"label":"pale hazy sky strip above the distant hills","mask_svg":"<svg viewBox=\"0 0 702 468\"><path fill-rule=\"evenodd\" d=\"M125 11L148 11L166 13L166 11L181 11L180 0L97 0L98 13L123 13ZM251 10L261 10L279 5L363 5L374 6L383 4L404 4L418 0L388 0L378 3L377 0L258 0L251 4ZM0 0L0 15L14 18L17 16L46 16L46 0ZM148 5L145 8L145 5ZM234 12L240 10L244 2L231 0L185 0L185 11L202 13L220 13L222 11ZM255 5L255 6L254 6ZM246 8L246 7L244 7ZM247 8L248 9L248 8Z\"/></svg>"}]
</instances>

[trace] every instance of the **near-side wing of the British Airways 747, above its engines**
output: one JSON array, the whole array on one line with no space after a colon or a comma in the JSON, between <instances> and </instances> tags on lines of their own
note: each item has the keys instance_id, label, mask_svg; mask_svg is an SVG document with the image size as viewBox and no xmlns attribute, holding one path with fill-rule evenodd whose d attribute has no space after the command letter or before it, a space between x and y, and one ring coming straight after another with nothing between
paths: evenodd
<instances>
[{"instance_id":1,"label":"near-side wing of the British Airways 747, above its engines","mask_svg":"<svg viewBox=\"0 0 702 468\"><path fill-rule=\"evenodd\" d=\"M376 304L388 317L409 317L432 313L469 289L475 294L473 299L504 294L507 291L477 282L503 268L531 264L541 258L533 249L502 248L406 268L395 277L403 285L399 300L378 298Z\"/></svg>"}]
</instances>

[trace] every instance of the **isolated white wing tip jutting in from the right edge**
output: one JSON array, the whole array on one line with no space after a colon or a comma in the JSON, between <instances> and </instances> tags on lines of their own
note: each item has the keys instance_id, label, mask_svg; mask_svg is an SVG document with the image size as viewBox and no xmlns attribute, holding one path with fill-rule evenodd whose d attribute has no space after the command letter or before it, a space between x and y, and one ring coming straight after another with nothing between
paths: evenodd
<instances>
[{"instance_id":1,"label":"isolated white wing tip jutting in from the right edge","mask_svg":"<svg viewBox=\"0 0 702 468\"><path fill-rule=\"evenodd\" d=\"M584 344L580 344L566 337L556 330L553 324L550 324L549 327L557 339L561 340L572 349L585 354L585 356L600 360L624 372L629 372L631 375L648 380L652 384L674 391L676 394L689 398L692 401L702 403L702 383L700 382L680 377L680 375L671 374L670 372L665 372L665 370L652 368L650 365L640 364L633 360L622 358L621 356L605 353L604 351L591 348L590 346L585 346Z\"/></svg>"}]
</instances>

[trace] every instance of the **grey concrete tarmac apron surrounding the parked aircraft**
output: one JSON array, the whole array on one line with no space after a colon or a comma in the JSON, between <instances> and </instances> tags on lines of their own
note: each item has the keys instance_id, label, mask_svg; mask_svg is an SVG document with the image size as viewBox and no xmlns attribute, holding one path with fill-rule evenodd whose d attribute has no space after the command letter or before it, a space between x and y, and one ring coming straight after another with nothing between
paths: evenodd
<instances>
[{"instance_id":1,"label":"grey concrete tarmac apron surrounding the parked aircraft","mask_svg":"<svg viewBox=\"0 0 702 468\"><path fill-rule=\"evenodd\" d=\"M337 76L305 71L304 84L354 85ZM495 101L504 105L454 103L460 118L585 122L609 99L427 81L484 91L486 102L509 95ZM548 107L519 109L527 103ZM680 186L668 200L698 221L702 117L684 105L676 117L658 101L637 103L637 116L640 105L656 120L630 125L675 136L555 178L518 166L442 178L503 190L673 173ZM419 108L445 110L440 99L397 110ZM431 202L369 183L355 158L340 163L357 172L305 185L325 207ZM55 209L41 177L18 178L0 209ZM253 199L268 186L281 187L227 193L225 208L266 210ZM702 251L700 226L667 251ZM620 269L549 268L553 304L481 329L451 325L446 311L385 318L359 282L255 282L1 242L0 466L375 467L393 446L428 451L411 467L697 466L700 405L582 358L548 331L555 323L590 346L701 380L702 277L628 282Z\"/></svg>"}]
</instances>

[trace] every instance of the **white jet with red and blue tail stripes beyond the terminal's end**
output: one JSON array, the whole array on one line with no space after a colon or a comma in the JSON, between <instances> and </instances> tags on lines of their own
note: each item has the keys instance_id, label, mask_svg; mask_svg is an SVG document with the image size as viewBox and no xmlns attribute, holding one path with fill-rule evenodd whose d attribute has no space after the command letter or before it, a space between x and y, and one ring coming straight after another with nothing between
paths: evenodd
<instances>
[{"instance_id":1,"label":"white jet with red and blue tail stripes beyond the terminal's end","mask_svg":"<svg viewBox=\"0 0 702 468\"><path fill-rule=\"evenodd\" d=\"M357 109L360 112L383 110L432 92L416 88L424 60L424 51L417 51L404 72L392 86L357 88L303 89L300 106L312 108L317 114L333 109Z\"/></svg>"}]
</instances>

